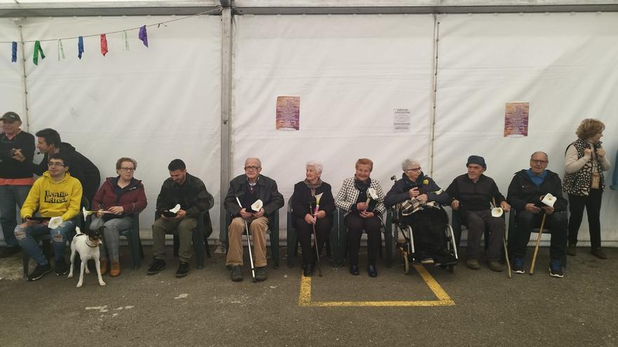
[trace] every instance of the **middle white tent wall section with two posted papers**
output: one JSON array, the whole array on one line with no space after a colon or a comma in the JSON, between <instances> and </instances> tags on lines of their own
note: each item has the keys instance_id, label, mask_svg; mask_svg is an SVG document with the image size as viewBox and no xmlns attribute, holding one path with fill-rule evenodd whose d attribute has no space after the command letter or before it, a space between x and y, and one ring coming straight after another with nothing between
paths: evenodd
<instances>
[{"instance_id":1,"label":"middle white tent wall section with two posted papers","mask_svg":"<svg viewBox=\"0 0 618 347\"><path fill-rule=\"evenodd\" d=\"M324 163L335 195L357 158L372 158L385 193L403 158L428 161L432 15L248 15L235 23L233 175L259 157L287 201L310 160ZM275 130L280 95L301 97L299 131ZM408 131L393 132L394 108L412 111Z\"/></svg>"}]
</instances>

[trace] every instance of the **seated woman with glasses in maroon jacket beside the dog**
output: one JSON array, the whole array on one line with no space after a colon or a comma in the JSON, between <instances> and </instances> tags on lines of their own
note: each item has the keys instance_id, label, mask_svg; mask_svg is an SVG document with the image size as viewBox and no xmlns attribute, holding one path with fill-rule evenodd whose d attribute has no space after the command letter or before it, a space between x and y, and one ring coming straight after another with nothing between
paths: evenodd
<instances>
[{"instance_id":1,"label":"seated woman with glasses in maroon jacket beside the dog","mask_svg":"<svg viewBox=\"0 0 618 347\"><path fill-rule=\"evenodd\" d=\"M120 275L119 234L131 228L133 217L145 209L146 195L139 179L133 177L138 163L131 158L120 158L116 162L117 177L108 177L92 200L92 210L98 210L90 224L91 229L105 226L103 245L100 247L101 275L107 272L107 254L112 264L110 275Z\"/></svg>"}]
</instances>

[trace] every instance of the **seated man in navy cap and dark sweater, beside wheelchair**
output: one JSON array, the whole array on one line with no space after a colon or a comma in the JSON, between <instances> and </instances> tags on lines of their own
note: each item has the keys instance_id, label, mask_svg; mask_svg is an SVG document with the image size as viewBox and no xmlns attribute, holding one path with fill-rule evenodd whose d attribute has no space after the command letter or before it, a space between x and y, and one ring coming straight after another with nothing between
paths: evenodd
<instances>
[{"instance_id":1,"label":"seated man in navy cap and dark sweater, beside wheelchair","mask_svg":"<svg viewBox=\"0 0 618 347\"><path fill-rule=\"evenodd\" d=\"M485 242L489 245L485 253L487 267L493 271L502 271L499 263L502 239L506 231L506 223L501 217L492 217L490 204L492 198L505 212L511 210L511 206L506 203L506 199L500 193L496 182L490 177L483 175L487 170L485 159L482 156L470 156L466 163L468 173L453 179L447 188L447 193L453 198L451 207L454 211L459 211L462 224L468 226L468 247L466 254L466 266L473 270L478 270L480 238L485 231L489 230L489 240Z\"/></svg>"}]
</instances>

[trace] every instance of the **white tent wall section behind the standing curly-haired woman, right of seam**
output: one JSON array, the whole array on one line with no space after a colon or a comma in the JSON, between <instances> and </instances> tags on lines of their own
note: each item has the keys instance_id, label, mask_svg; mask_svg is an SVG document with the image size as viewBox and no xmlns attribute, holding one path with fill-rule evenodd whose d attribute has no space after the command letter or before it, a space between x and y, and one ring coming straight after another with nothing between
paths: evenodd
<instances>
[{"instance_id":1,"label":"white tent wall section behind the standing curly-haired woman, right of seam","mask_svg":"<svg viewBox=\"0 0 618 347\"><path fill-rule=\"evenodd\" d=\"M471 154L485 157L486 173L504 196L534 151L545 151L548 169L562 177L565 149L583 118L605 123L602 140L613 161L618 13L441 15L439 22L434 175L440 184L466 172ZM527 137L503 137L505 103L512 101L530 102ZM604 242L618 241L611 175L605 172ZM579 239L589 240L586 217Z\"/></svg>"}]
</instances>

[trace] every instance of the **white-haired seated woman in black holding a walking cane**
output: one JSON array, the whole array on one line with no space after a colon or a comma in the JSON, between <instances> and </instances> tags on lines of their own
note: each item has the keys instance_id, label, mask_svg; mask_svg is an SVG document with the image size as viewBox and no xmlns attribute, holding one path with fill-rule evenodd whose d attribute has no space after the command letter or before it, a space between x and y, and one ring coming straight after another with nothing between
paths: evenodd
<instances>
[{"instance_id":1,"label":"white-haired seated woman in black holding a walking cane","mask_svg":"<svg viewBox=\"0 0 618 347\"><path fill-rule=\"evenodd\" d=\"M335 200L330 184L322 182L320 178L323 169L324 165L317 161L306 163L306 178L294 185L294 195L292 195L291 200L294 228L298 233L298 240L303 251L303 274L305 276L310 276L313 273L317 254L322 254L322 247L329 236L333 223ZM319 201L317 201L317 197L320 198ZM318 205L317 212L315 212L316 203ZM311 234L314 226L317 251L311 249Z\"/></svg>"}]
</instances>

